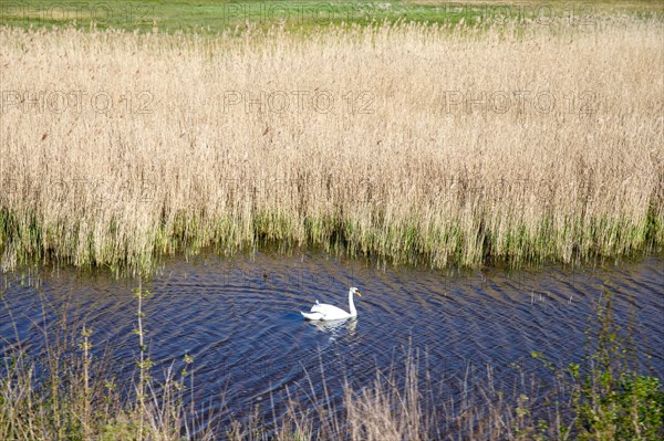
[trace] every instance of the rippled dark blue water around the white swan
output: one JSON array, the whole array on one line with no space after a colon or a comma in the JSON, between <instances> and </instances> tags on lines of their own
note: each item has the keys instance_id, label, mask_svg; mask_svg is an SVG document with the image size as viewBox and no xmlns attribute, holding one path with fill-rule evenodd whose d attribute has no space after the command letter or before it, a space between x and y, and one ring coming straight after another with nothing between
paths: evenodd
<instances>
[{"instance_id":1,"label":"rippled dark blue water around the white swan","mask_svg":"<svg viewBox=\"0 0 664 441\"><path fill-rule=\"evenodd\" d=\"M194 400L220 420L242 418L258 405L266 418L290 396L322 396L324 371L331 400L342 386L371 386L378 371L404 371L404 355L418 355L437 406L459 393L468 372L492 367L509 385L516 368L541 369L530 356L554 364L579 361L593 305L608 287L616 319L634 323L644 372L664 377L664 259L618 266L507 272L485 269L439 272L381 266L317 253L257 253L236 258L203 254L167 261L143 280L144 326L155 377L168 366L194 363ZM0 342L43 348L42 329L68 312L71 327L93 329L95 354L108 350L118 376L135 372L138 280L73 270L22 270L1 275ZM347 288L357 286L356 319L308 323L299 311L315 300L347 309ZM649 357L645 357L647 354ZM424 376L421 376L424 377ZM443 386L445 385L445 386Z\"/></svg>"}]
</instances>

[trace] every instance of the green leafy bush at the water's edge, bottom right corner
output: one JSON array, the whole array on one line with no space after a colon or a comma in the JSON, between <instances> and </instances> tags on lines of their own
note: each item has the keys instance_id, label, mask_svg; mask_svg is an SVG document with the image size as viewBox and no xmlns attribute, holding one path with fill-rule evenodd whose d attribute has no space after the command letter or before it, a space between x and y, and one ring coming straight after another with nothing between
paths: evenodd
<instances>
[{"instance_id":1,"label":"green leafy bush at the water's edge, bottom right corner","mask_svg":"<svg viewBox=\"0 0 664 441\"><path fill-rule=\"evenodd\" d=\"M595 318L599 326L596 339L591 345L589 337L581 364L570 363L567 368L558 369L542 354L532 353L571 390L569 406L574 439L662 439L662 381L639 374L635 343L616 324L613 294L609 290L604 290L604 296L598 303Z\"/></svg>"}]
</instances>

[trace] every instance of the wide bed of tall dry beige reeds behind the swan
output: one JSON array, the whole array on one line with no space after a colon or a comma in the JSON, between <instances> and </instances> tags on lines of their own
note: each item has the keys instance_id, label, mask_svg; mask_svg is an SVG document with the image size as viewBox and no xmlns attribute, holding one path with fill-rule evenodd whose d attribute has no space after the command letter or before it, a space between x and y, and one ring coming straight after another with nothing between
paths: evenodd
<instances>
[{"instance_id":1,"label":"wide bed of tall dry beige reeds behind the swan","mask_svg":"<svg viewBox=\"0 0 664 441\"><path fill-rule=\"evenodd\" d=\"M2 28L2 267L274 243L434 267L662 250L661 24Z\"/></svg>"}]
</instances>

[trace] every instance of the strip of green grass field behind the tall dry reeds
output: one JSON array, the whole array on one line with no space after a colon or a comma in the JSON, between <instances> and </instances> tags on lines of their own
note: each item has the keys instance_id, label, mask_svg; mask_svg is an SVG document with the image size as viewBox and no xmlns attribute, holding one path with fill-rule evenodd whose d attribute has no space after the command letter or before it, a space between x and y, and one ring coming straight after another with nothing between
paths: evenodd
<instances>
[{"instance_id":1,"label":"strip of green grass field behind the tall dry reeds","mask_svg":"<svg viewBox=\"0 0 664 441\"><path fill-rule=\"evenodd\" d=\"M496 20L572 18L589 24L595 14L626 12L641 15L664 14L664 7L649 1L590 1L562 4L536 1L235 1L235 0L125 0L117 2L77 2L42 0L3 1L0 25L52 28L75 23L83 29L123 29L126 31L220 33L236 28L268 29L283 24L307 31L329 24L370 24L382 21L417 21L438 24L477 23Z\"/></svg>"}]
</instances>

